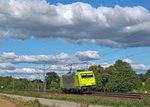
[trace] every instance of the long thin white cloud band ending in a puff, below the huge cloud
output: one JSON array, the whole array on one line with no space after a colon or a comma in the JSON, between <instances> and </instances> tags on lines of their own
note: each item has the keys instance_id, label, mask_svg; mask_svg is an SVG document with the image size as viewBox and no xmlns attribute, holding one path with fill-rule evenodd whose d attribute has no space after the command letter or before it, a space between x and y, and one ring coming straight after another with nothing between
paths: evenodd
<instances>
[{"instance_id":1,"label":"long thin white cloud band ending in a puff, below the huge cloud","mask_svg":"<svg viewBox=\"0 0 150 107\"><path fill-rule=\"evenodd\" d=\"M74 57L74 55L76 57ZM0 63L3 65L11 64L67 64L67 63L82 63L82 61L98 60L99 54L97 51L81 51L74 55L60 53L58 55L17 55L14 52L3 52L0 54ZM79 60L80 61L79 61Z\"/></svg>"}]
</instances>

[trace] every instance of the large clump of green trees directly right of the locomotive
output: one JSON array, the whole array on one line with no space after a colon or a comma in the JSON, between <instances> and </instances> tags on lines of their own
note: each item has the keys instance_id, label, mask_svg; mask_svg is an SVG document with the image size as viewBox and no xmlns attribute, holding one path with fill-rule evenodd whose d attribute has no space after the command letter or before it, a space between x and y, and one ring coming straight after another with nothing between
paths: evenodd
<instances>
[{"instance_id":1,"label":"large clump of green trees directly right of the locomotive","mask_svg":"<svg viewBox=\"0 0 150 107\"><path fill-rule=\"evenodd\" d=\"M96 75L97 89L99 91L128 92L137 90L142 82L130 64L117 60L114 65L107 68L91 66Z\"/></svg>"}]
</instances>

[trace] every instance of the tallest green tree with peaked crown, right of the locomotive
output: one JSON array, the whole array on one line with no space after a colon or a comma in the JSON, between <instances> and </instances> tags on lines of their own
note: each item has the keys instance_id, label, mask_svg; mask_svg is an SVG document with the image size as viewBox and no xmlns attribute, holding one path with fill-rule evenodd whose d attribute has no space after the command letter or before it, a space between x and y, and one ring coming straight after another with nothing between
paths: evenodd
<instances>
[{"instance_id":1,"label":"tallest green tree with peaked crown, right of the locomotive","mask_svg":"<svg viewBox=\"0 0 150 107\"><path fill-rule=\"evenodd\" d=\"M114 64L114 67L117 71L117 78L115 80L117 83L117 91L127 92L139 89L142 86L141 80L130 64L118 60Z\"/></svg>"}]
</instances>

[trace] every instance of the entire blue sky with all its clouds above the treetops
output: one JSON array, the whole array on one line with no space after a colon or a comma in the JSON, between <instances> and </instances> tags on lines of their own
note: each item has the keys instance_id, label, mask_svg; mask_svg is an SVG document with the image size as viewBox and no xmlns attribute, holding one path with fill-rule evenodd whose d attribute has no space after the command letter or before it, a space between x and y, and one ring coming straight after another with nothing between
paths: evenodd
<instances>
[{"instance_id":1,"label":"entire blue sky with all its clouds above the treetops","mask_svg":"<svg viewBox=\"0 0 150 107\"><path fill-rule=\"evenodd\" d=\"M150 68L149 0L0 2L2 73L34 72L58 60L109 66L122 59L137 73Z\"/></svg>"}]
</instances>

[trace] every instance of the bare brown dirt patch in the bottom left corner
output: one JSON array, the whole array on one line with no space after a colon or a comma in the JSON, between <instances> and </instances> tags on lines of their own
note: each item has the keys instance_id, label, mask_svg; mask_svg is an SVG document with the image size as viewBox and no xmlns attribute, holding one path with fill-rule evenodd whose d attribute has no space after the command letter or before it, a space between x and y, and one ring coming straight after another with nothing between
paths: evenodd
<instances>
[{"instance_id":1,"label":"bare brown dirt patch in the bottom left corner","mask_svg":"<svg viewBox=\"0 0 150 107\"><path fill-rule=\"evenodd\" d=\"M7 99L0 98L0 107L18 107L18 106Z\"/></svg>"}]
</instances>

